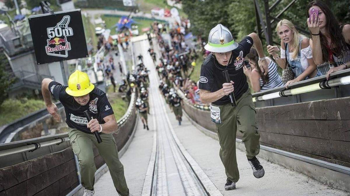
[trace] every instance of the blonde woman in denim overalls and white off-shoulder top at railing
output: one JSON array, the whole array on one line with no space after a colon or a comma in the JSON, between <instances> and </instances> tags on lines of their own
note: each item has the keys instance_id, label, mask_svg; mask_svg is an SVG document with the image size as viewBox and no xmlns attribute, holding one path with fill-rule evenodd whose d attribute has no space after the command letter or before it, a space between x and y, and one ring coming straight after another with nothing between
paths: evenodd
<instances>
[{"instance_id":1,"label":"blonde woman in denim overalls and white off-shoulder top at railing","mask_svg":"<svg viewBox=\"0 0 350 196\"><path fill-rule=\"evenodd\" d=\"M292 68L295 78L286 83L288 85L309 78L321 76L317 71L316 64L312 58L309 39L301 35L294 24L286 19L277 23L276 31L281 39L281 57L278 56L278 46L267 46L267 52L273 56L276 63L286 68L286 58Z\"/></svg>"}]
</instances>

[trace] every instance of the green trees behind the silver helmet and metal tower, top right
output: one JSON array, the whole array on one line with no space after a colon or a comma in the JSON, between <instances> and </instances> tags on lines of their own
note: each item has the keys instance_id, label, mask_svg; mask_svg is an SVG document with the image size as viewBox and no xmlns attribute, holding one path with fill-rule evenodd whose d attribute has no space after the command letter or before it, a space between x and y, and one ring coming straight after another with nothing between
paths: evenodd
<instances>
[{"instance_id":1,"label":"green trees behind the silver helmet and metal tower, top right","mask_svg":"<svg viewBox=\"0 0 350 196\"><path fill-rule=\"evenodd\" d=\"M268 6L271 7L277 0L269 0ZM349 23L350 12L348 1L330 1L325 0L330 6L332 12L341 23ZM297 27L306 31L307 28L307 5L310 0L295 1L279 18L286 18L292 21ZM258 0L262 18L265 21L264 0ZM290 1L282 0L270 12L270 15L276 17L283 9L289 5ZM183 11L188 15L191 21L191 31L194 35L201 35L207 40L209 31L217 24L221 23L231 30L235 40L239 41L251 32L257 32L255 17L254 0L221 0L221 1L200 1L200 0L182 0ZM279 43L279 37L275 31L278 20L273 20L272 37L275 43ZM262 33L262 39L264 39ZM263 46L266 44L262 40ZM264 47L265 48L265 47Z\"/></svg>"}]
</instances>

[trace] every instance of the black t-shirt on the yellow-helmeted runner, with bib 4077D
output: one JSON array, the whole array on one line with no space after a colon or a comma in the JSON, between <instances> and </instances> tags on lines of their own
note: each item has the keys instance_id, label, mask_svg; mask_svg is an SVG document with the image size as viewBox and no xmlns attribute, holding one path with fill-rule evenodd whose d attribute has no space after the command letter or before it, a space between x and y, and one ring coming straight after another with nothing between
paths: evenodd
<instances>
[{"instance_id":1,"label":"black t-shirt on the yellow-helmeted runner, with bib 4077D","mask_svg":"<svg viewBox=\"0 0 350 196\"><path fill-rule=\"evenodd\" d=\"M49 91L55 99L61 101L64 106L68 127L92 134L90 129L87 128L88 121L84 114L85 110L89 111L90 116L93 119L97 119L100 124L105 123L103 118L114 114L106 93L102 90L95 87L90 92L89 102L82 106L74 100L73 96L70 96L65 92L66 88L68 88L68 86L63 86L56 81L52 81L49 84Z\"/></svg>"}]
</instances>

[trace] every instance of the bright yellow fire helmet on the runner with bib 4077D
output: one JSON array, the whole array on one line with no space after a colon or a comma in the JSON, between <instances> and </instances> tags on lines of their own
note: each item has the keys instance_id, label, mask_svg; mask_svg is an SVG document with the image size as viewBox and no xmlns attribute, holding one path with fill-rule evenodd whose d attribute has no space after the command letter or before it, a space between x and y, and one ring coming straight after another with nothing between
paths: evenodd
<instances>
[{"instance_id":1,"label":"bright yellow fire helmet on the runner with bib 4077D","mask_svg":"<svg viewBox=\"0 0 350 196\"><path fill-rule=\"evenodd\" d=\"M95 86L90 83L89 76L86 73L75 70L69 76L66 93L70 96L79 97L90 93L94 88Z\"/></svg>"}]
</instances>

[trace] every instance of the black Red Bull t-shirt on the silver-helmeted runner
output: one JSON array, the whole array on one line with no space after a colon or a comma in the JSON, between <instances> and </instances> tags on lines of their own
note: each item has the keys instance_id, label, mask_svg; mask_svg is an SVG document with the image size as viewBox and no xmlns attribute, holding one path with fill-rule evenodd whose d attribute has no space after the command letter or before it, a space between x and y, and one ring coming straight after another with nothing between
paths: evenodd
<instances>
[{"instance_id":1,"label":"black Red Bull t-shirt on the silver-helmeted runner","mask_svg":"<svg viewBox=\"0 0 350 196\"><path fill-rule=\"evenodd\" d=\"M232 61L228 66L220 65L214 56L210 53L205 58L201 67L201 76L199 88L215 92L222 89L222 84L225 83L223 70L227 69L230 75L230 80L235 82L235 90L233 91L235 99L239 99L243 93L248 90L247 77L243 73L243 61L244 57L250 52L250 48L253 45L253 39L249 36L243 38L238 47L232 51ZM224 105L230 103L229 96L224 96L217 101L214 101L215 105Z\"/></svg>"}]
</instances>

